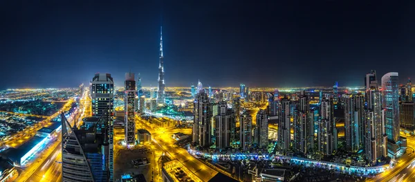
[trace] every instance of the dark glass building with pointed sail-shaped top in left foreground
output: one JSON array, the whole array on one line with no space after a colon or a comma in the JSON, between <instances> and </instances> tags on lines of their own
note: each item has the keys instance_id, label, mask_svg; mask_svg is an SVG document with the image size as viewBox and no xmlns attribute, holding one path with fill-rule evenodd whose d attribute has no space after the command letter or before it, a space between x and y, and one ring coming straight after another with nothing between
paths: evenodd
<instances>
[{"instance_id":1,"label":"dark glass building with pointed sail-shaped top in left foreground","mask_svg":"<svg viewBox=\"0 0 415 182\"><path fill-rule=\"evenodd\" d=\"M64 113L61 114L61 121L62 181L112 181L109 146L102 140L106 134L97 134L98 125L89 129L71 127Z\"/></svg>"}]
</instances>

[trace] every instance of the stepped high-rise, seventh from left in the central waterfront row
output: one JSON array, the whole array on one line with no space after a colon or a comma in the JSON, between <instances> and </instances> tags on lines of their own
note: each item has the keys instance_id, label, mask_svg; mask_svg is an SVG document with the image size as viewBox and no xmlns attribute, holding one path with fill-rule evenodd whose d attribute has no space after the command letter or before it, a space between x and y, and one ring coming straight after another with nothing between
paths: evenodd
<instances>
[{"instance_id":1,"label":"stepped high-rise, seventh from left in the central waterfront row","mask_svg":"<svg viewBox=\"0 0 415 182\"><path fill-rule=\"evenodd\" d=\"M323 99L320 105L321 120L318 123L318 149L323 155L331 155L337 149L337 129L333 117L333 100Z\"/></svg>"}]
</instances>

